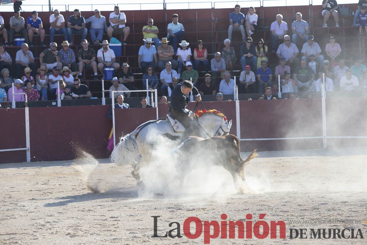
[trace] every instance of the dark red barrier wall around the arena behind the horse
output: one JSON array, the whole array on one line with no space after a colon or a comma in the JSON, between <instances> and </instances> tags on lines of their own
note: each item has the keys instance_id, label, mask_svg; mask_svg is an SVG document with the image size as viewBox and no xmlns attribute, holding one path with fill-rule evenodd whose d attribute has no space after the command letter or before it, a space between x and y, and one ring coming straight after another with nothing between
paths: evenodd
<instances>
[{"instance_id":1,"label":"dark red barrier wall around the arena behind the horse","mask_svg":"<svg viewBox=\"0 0 367 245\"><path fill-rule=\"evenodd\" d=\"M236 135L235 101L205 102L232 119ZM327 98L328 136L367 136L367 98ZM166 116L168 103L159 104L159 117ZM189 103L193 110L195 102ZM112 122L106 118L110 105L29 108L31 161L75 159L84 150L95 158L107 158ZM199 107L201 109L201 106ZM117 109L116 136L130 133L141 123L156 119L155 108ZM24 148L25 109L0 109L3 125L0 149ZM241 138L322 136L321 99L240 101ZM117 140L118 141L118 140ZM328 139L328 147L366 146L366 139ZM241 141L242 151L316 149L323 140ZM26 151L0 152L0 163L26 161Z\"/></svg>"}]
</instances>

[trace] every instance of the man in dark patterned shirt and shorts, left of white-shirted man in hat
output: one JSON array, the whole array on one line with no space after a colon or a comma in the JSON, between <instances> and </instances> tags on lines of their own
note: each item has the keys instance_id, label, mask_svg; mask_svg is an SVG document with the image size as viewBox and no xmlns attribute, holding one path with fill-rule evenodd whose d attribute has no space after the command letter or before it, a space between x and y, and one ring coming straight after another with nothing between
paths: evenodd
<instances>
[{"instance_id":1,"label":"man in dark patterned shirt and shorts, left of white-shirted man in hat","mask_svg":"<svg viewBox=\"0 0 367 245\"><path fill-rule=\"evenodd\" d=\"M81 78L81 72L83 71L83 68L93 68L94 72L94 80L98 80L97 77L97 62L95 62L96 54L93 48L88 47L88 41L86 39L81 41L81 47L78 51L78 67L79 67L79 79Z\"/></svg>"}]
</instances>

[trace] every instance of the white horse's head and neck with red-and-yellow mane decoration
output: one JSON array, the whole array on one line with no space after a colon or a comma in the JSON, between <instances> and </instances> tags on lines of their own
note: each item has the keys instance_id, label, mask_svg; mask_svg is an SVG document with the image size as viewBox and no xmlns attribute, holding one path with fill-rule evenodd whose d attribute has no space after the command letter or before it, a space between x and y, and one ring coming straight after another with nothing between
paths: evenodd
<instances>
[{"instance_id":1,"label":"white horse's head and neck with red-and-yellow mane decoration","mask_svg":"<svg viewBox=\"0 0 367 245\"><path fill-rule=\"evenodd\" d=\"M203 115L206 115L202 117ZM232 126L232 120L229 122L224 114L212 109L212 110L199 110L196 112L196 116L200 120L200 124L207 133L212 136L224 136L229 134L229 130Z\"/></svg>"}]
</instances>

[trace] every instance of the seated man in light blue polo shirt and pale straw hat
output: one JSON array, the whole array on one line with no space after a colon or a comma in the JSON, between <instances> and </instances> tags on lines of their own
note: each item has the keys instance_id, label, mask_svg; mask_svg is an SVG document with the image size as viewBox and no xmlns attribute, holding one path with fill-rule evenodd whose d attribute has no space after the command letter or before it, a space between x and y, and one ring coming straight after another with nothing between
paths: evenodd
<instances>
[{"instance_id":1,"label":"seated man in light blue polo shirt and pale straw hat","mask_svg":"<svg viewBox=\"0 0 367 245\"><path fill-rule=\"evenodd\" d=\"M141 46L139 48L138 53L138 65L139 68L144 73L146 68L151 65L154 69L157 68L157 50L154 45L152 45L153 40L151 37L147 37L146 39L143 39L145 42L145 45Z\"/></svg>"}]
</instances>

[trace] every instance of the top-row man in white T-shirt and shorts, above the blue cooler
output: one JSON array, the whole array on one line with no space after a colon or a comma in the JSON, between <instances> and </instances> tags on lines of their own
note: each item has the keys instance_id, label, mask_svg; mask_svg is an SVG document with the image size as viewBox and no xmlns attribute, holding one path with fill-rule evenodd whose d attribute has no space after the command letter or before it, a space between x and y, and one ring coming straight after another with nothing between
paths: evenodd
<instances>
[{"instance_id":1,"label":"top-row man in white T-shirt and shorts, above the blue cooler","mask_svg":"<svg viewBox=\"0 0 367 245\"><path fill-rule=\"evenodd\" d=\"M115 11L110 13L109 21L111 26L107 28L107 36L111 39L113 34L124 34L124 40L122 40L121 43L122 45L126 45L126 39L130 33L130 28L125 26L126 15L120 12L119 6L115 6Z\"/></svg>"}]
</instances>

